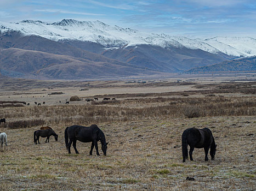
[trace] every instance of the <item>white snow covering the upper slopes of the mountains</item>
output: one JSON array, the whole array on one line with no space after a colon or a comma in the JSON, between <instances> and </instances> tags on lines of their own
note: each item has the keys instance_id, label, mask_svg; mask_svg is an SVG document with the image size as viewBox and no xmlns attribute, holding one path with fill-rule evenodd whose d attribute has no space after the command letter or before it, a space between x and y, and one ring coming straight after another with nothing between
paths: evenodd
<instances>
[{"instance_id":1,"label":"white snow covering the upper slopes of the mountains","mask_svg":"<svg viewBox=\"0 0 256 191\"><path fill-rule=\"evenodd\" d=\"M237 57L256 55L256 40L249 37L215 37L206 40L189 39L109 26L100 21L64 19L54 23L31 20L17 23L0 22L0 32L7 31L19 31L24 35L39 35L55 41L63 39L92 41L104 45L106 48L151 44L163 48L182 48L185 46L189 49L201 49L214 54L223 52Z\"/></svg>"}]
</instances>

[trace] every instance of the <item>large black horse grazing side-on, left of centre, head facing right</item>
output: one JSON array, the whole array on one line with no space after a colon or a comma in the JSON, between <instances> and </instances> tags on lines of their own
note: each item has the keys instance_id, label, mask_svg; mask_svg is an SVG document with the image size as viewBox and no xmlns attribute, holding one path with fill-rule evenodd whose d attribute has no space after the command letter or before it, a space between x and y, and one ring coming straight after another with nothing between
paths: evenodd
<instances>
[{"instance_id":1,"label":"large black horse grazing side-on, left of centre, head facing right","mask_svg":"<svg viewBox=\"0 0 256 191\"><path fill-rule=\"evenodd\" d=\"M102 130L95 124L93 124L90 127L84 127L84 126L70 126L65 129L65 143L66 143L66 148L70 152L70 147L73 142L73 147L76 151L77 154L78 151L76 149L76 141L81 141L81 142L92 142L92 146L90 147L90 155L93 154L93 147L95 146L96 153L98 156L100 156L99 151L98 151L98 141L101 142L101 150L104 153L104 156L106 156L107 152L107 144L105 135Z\"/></svg>"}]
</instances>

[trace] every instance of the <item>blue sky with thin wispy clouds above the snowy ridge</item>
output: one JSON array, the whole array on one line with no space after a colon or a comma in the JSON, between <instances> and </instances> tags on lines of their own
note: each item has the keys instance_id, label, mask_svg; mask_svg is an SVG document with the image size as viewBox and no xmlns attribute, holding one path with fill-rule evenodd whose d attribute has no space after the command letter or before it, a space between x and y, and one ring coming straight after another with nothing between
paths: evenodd
<instances>
[{"instance_id":1,"label":"blue sky with thin wispy clouds above the snowy ridge","mask_svg":"<svg viewBox=\"0 0 256 191\"><path fill-rule=\"evenodd\" d=\"M256 38L255 0L1 0L0 21L99 20L139 31L187 37Z\"/></svg>"}]
</instances>

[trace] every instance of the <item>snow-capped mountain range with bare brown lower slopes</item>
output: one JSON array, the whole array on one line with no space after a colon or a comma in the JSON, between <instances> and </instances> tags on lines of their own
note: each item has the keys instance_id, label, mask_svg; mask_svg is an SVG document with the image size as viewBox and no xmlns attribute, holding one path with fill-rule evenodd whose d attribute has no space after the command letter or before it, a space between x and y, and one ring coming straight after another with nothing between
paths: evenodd
<instances>
[{"instance_id":1,"label":"snow-capped mountain range with bare brown lower slopes","mask_svg":"<svg viewBox=\"0 0 256 191\"><path fill-rule=\"evenodd\" d=\"M250 37L190 39L71 19L0 22L0 73L13 77L111 79L165 75L254 55L256 39ZM243 70L241 67L237 70Z\"/></svg>"}]
</instances>

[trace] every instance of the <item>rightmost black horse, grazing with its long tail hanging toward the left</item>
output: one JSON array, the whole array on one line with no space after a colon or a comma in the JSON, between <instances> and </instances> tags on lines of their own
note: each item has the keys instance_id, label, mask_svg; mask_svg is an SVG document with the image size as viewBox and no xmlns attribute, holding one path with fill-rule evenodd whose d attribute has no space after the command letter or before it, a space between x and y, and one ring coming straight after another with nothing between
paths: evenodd
<instances>
[{"instance_id":1,"label":"rightmost black horse, grazing with its long tail hanging toward the left","mask_svg":"<svg viewBox=\"0 0 256 191\"><path fill-rule=\"evenodd\" d=\"M183 154L183 162L188 158L187 154L187 145L190 146L189 150L189 158L190 160L193 160L192 153L194 151L194 148L204 148L204 153L206 154L204 160L209 160L207 155L209 148L211 148L210 155L212 157L212 160L214 160L216 147L215 141L213 138L213 134L210 129L203 128L203 129L197 129L197 128L189 128L184 130L182 136L182 154Z\"/></svg>"}]
</instances>

